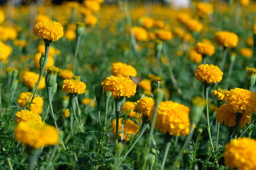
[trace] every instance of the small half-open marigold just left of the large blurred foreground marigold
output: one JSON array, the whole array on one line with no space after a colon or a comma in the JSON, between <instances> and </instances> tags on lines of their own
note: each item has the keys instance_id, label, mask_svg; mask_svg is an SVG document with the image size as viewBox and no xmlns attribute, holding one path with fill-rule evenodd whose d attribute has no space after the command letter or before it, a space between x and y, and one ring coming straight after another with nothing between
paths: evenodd
<instances>
[{"instance_id":1,"label":"small half-open marigold just left of the large blurred foreground marigold","mask_svg":"<svg viewBox=\"0 0 256 170\"><path fill-rule=\"evenodd\" d=\"M147 117L153 114L154 109L155 101L151 97L141 98L134 104L134 111Z\"/></svg>"}]
</instances>

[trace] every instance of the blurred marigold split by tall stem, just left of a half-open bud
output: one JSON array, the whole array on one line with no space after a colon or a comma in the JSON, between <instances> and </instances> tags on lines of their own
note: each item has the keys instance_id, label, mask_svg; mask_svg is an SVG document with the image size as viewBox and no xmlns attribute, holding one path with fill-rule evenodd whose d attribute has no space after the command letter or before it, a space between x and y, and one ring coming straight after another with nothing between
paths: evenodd
<instances>
[{"instance_id":1,"label":"blurred marigold split by tall stem, just left of a half-open bud","mask_svg":"<svg viewBox=\"0 0 256 170\"><path fill-rule=\"evenodd\" d=\"M31 71L26 71L23 74L22 83L24 83L24 85L29 87L29 89L33 89L33 87L36 85L38 78L39 78L39 74ZM37 90L44 89L44 87L45 87L45 78L42 77Z\"/></svg>"}]
</instances>

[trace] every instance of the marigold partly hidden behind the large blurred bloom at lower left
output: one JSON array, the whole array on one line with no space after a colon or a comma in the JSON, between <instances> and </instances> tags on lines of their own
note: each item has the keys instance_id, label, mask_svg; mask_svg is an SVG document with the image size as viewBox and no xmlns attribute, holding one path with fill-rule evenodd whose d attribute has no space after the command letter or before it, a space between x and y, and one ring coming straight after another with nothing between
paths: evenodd
<instances>
[{"instance_id":1,"label":"marigold partly hidden behind the large blurred bloom at lower left","mask_svg":"<svg viewBox=\"0 0 256 170\"><path fill-rule=\"evenodd\" d=\"M36 123L41 123L42 122L42 118L40 117L40 115L38 115L37 113L35 113L33 111L20 110L17 113L15 113L14 121L16 123L28 122L28 121L33 121L33 122L36 122Z\"/></svg>"}]
</instances>

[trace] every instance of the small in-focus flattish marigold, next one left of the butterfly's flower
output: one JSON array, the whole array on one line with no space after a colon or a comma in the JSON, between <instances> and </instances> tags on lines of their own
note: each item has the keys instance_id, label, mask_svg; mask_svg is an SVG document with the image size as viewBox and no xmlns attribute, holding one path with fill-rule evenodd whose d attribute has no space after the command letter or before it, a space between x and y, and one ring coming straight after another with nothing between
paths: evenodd
<instances>
[{"instance_id":1,"label":"small in-focus flattish marigold, next one left of the butterfly's flower","mask_svg":"<svg viewBox=\"0 0 256 170\"><path fill-rule=\"evenodd\" d=\"M63 80L62 90L71 94L84 94L86 84L80 80L66 79Z\"/></svg>"}]
</instances>

